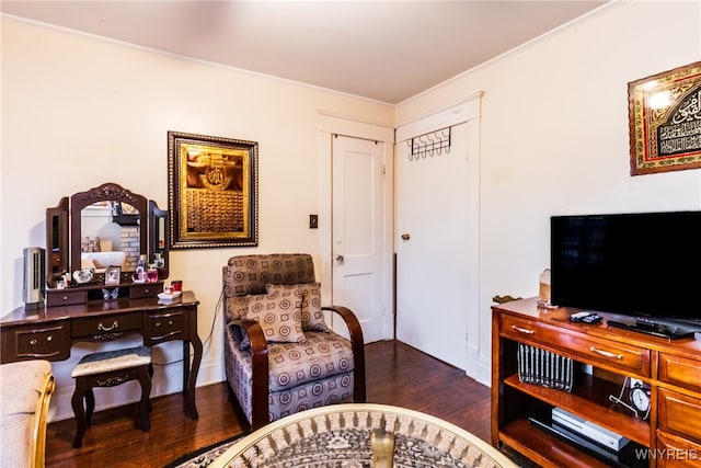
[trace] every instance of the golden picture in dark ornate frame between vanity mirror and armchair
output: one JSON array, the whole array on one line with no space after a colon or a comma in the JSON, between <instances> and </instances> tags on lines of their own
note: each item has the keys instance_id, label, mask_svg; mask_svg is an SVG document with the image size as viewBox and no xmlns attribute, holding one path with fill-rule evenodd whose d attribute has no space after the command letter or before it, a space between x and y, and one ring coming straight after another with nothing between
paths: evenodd
<instances>
[{"instance_id":1,"label":"golden picture in dark ornate frame between vanity mirror and armchair","mask_svg":"<svg viewBox=\"0 0 701 468\"><path fill-rule=\"evenodd\" d=\"M170 249L255 247L258 144L168 133Z\"/></svg>"}]
</instances>

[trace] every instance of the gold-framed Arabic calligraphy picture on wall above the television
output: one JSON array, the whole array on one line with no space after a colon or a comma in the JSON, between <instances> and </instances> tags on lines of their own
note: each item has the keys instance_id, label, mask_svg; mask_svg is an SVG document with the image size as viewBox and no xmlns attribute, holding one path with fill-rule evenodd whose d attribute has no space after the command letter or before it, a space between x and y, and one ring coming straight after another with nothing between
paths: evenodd
<instances>
[{"instance_id":1,"label":"gold-framed Arabic calligraphy picture on wall above the television","mask_svg":"<svg viewBox=\"0 0 701 468\"><path fill-rule=\"evenodd\" d=\"M628 83L631 175L701 168L701 61Z\"/></svg>"}]
</instances>

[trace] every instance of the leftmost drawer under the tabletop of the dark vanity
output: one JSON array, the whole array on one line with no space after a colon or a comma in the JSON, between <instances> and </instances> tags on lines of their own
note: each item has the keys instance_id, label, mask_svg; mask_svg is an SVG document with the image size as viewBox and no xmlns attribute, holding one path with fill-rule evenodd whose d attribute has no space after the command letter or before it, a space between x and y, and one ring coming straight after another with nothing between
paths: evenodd
<instances>
[{"instance_id":1,"label":"leftmost drawer under the tabletop of the dark vanity","mask_svg":"<svg viewBox=\"0 0 701 468\"><path fill-rule=\"evenodd\" d=\"M2 362L62 361L70 357L70 323L18 327L2 331Z\"/></svg>"}]
</instances>

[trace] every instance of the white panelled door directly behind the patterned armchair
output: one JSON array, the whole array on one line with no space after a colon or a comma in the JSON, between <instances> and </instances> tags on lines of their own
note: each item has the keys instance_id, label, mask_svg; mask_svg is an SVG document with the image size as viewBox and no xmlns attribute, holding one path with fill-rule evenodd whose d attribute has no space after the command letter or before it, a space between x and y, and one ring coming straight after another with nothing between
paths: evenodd
<instances>
[{"instance_id":1,"label":"white panelled door directly behind the patterned armchair","mask_svg":"<svg viewBox=\"0 0 701 468\"><path fill-rule=\"evenodd\" d=\"M384 144L334 136L332 141L333 301L350 308L366 343L383 339Z\"/></svg>"}]
</instances>

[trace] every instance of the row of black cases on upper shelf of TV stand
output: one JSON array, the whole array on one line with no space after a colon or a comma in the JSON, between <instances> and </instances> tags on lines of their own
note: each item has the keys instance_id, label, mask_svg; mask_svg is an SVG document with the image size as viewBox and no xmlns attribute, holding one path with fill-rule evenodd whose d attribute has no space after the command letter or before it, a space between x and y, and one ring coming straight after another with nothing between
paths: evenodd
<instances>
[{"instance_id":1,"label":"row of black cases on upper shelf of TV stand","mask_svg":"<svg viewBox=\"0 0 701 468\"><path fill-rule=\"evenodd\" d=\"M518 378L522 383L572 391L574 366L570 357L518 343Z\"/></svg>"}]
</instances>

